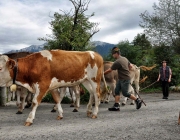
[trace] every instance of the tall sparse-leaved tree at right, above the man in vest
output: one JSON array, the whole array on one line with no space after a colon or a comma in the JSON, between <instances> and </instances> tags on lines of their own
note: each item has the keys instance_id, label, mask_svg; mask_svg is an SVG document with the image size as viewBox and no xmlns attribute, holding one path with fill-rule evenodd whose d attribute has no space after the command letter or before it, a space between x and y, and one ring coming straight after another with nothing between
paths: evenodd
<instances>
[{"instance_id":1,"label":"tall sparse-leaved tree at right, above the man in vest","mask_svg":"<svg viewBox=\"0 0 180 140\"><path fill-rule=\"evenodd\" d=\"M172 46L180 39L180 3L179 0L159 0L159 6L154 3L152 15L145 11L140 14L140 26L153 44Z\"/></svg>"}]
</instances>

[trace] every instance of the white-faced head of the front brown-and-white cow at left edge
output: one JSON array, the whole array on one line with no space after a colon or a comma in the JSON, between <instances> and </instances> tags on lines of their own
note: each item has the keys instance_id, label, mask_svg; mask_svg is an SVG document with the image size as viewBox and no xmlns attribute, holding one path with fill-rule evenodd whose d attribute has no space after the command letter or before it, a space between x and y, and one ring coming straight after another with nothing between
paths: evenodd
<instances>
[{"instance_id":1,"label":"white-faced head of the front brown-and-white cow at left edge","mask_svg":"<svg viewBox=\"0 0 180 140\"><path fill-rule=\"evenodd\" d=\"M12 84L12 73L16 62L6 55L0 55L0 87Z\"/></svg>"}]
</instances>

